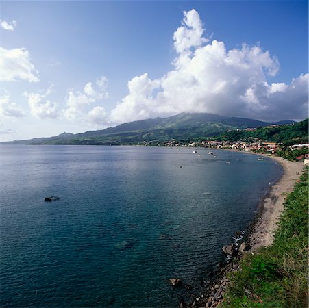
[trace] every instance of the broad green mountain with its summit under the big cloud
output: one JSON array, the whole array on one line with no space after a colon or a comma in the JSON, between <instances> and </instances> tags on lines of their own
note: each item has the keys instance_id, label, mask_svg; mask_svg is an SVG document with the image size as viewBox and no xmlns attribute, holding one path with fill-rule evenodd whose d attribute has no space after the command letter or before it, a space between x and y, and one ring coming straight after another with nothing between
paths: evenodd
<instances>
[{"instance_id":1,"label":"broad green mountain with its summit under the big cloud","mask_svg":"<svg viewBox=\"0 0 309 308\"><path fill-rule=\"evenodd\" d=\"M293 124L294 121L280 121ZM175 140L196 140L219 136L224 131L264 127L279 123L267 123L249 118L219 116L217 114L181 113L169 118L154 118L123 123L116 127L85 133L60 133L50 138L33 138L5 142L10 144L138 144L144 140L164 142Z\"/></svg>"}]
</instances>

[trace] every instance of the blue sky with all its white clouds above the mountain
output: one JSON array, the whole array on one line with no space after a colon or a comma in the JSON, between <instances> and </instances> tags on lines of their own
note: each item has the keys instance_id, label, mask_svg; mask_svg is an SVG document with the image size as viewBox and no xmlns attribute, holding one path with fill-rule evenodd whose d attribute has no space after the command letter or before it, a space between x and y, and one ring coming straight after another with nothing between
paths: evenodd
<instances>
[{"instance_id":1,"label":"blue sky with all its white clouds above the mountain","mask_svg":"<svg viewBox=\"0 0 309 308\"><path fill-rule=\"evenodd\" d=\"M1 1L1 141L180 112L308 117L308 1Z\"/></svg>"}]
</instances>

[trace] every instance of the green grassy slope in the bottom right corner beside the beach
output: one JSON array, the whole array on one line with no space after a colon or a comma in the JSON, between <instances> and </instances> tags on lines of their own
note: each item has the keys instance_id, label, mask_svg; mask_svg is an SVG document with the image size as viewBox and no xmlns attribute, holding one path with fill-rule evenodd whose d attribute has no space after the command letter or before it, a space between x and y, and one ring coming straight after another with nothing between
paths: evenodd
<instances>
[{"instance_id":1,"label":"green grassy slope in the bottom right corner beside the beach","mask_svg":"<svg viewBox=\"0 0 309 308\"><path fill-rule=\"evenodd\" d=\"M308 307L308 168L286 198L273 246L240 260L223 307Z\"/></svg>"}]
</instances>

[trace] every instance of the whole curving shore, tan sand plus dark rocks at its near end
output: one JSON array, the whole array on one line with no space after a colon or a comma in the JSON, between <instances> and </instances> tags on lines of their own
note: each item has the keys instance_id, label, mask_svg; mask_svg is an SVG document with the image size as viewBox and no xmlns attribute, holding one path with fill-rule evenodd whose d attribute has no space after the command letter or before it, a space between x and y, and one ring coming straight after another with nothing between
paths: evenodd
<instances>
[{"instance_id":1,"label":"whole curving shore, tan sand plus dark rocks at its near end","mask_svg":"<svg viewBox=\"0 0 309 308\"><path fill-rule=\"evenodd\" d=\"M239 270L238 259L244 253L254 253L256 249L273 243L277 222L284 209L284 199L293 191L304 165L286 161L281 157L271 158L276 164L282 165L284 173L261 201L258 213L247 230L247 235L244 231L236 231L232 237L232 243L222 248L226 258L224 262L218 264L217 271L213 273L214 279L208 282L202 294L193 298L191 303L180 302L180 307L219 307L230 283L227 274Z\"/></svg>"}]
</instances>

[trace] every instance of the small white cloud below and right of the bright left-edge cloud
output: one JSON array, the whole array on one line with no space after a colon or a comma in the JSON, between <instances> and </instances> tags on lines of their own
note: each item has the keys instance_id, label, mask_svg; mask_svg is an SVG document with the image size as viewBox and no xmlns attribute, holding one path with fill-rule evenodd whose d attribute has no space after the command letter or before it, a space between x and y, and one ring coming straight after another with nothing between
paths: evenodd
<instances>
[{"instance_id":1,"label":"small white cloud below and right of the bright left-edge cloud","mask_svg":"<svg viewBox=\"0 0 309 308\"><path fill-rule=\"evenodd\" d=\"M28 99L28 104L32 116L36 118L57 118L57 105L51 102L47 97L51 94L53 86L50 86L45 92L41 93L27 93L24 95Z\"/></svg>"}]
</instances>

